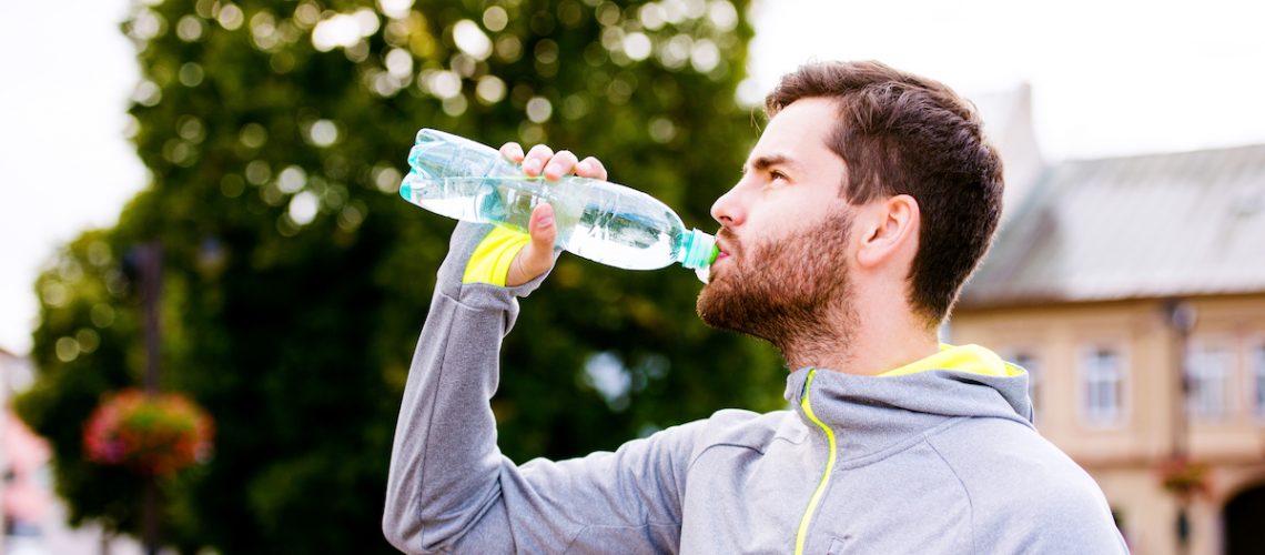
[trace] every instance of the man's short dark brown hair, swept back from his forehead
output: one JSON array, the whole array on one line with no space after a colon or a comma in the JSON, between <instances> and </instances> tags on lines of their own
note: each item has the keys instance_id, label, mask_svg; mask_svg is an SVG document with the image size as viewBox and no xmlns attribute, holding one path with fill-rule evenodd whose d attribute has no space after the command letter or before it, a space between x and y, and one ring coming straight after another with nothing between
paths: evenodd
<instances>
[{"instance_id":1,"label":"man's short dark brown hair, swept back from his forehead","mask_svg":"<svg viewBox=\"0 0 1265 555\"><path fill-rule=\"evenodd\" d=\"M1002 161L973 105L945 85L879 62L812 63L764 100L769 116L799 99L839 102L829 147L848 167L853 205L910 195L922 214L910 302L932 325L947 317L984 257L1002 212Z\"/></svg>"}]
</instances>

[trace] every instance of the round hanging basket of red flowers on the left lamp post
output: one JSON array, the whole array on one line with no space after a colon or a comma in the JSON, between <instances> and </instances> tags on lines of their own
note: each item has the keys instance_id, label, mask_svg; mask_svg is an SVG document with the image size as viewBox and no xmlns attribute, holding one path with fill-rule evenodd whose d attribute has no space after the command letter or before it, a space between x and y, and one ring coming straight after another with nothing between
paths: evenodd
<instances>
[{"instance_id":1,"label":"round hanging basket of red flowers on the left lamp post","mask_svg":"<svg viewBox=\"0 0 1265 555\"><path fill-rule=\"evenodd\" d=\"M171 475L211 454L215 426L180 393L129 388L105 397L83 427L89 460L149 477Z\"/></svg>"}]
</instances>

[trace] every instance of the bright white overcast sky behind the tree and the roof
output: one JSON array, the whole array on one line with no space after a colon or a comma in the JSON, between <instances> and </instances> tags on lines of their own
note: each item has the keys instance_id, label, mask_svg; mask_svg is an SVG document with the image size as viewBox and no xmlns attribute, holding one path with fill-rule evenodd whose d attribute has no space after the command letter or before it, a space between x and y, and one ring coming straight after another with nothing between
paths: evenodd
<instances>
[{"instance_id":1,"label":"bright white overcast sky behind the tree and the roof","mask_svg":"<svg viewBox=\"0 0 1265 555\"><path fill-rule=\"evenodd\" d=\"M678 0L664 0L678 1ZM0 348L25 354L33 282L145 182L123 138L138 78L126 0L10 1L0 18ZM808 59L873 58L960 92L1032 86L1047 159L1265 143L1265 3L765 0L759 99Z\"/></svg>"}]
</instances>

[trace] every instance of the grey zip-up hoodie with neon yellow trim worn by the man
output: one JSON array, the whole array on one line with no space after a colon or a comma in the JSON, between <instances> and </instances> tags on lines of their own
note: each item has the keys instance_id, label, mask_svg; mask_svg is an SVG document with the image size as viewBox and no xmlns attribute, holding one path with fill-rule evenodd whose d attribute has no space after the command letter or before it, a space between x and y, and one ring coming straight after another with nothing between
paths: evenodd
<instances>
[{"instance_id":1,"label":"grey zip-up hoodie with neon yellow trim worn by the man","mask_svg":"<svg viewBox=\"0 0 1265 555\"><path fill-rule=\"evenodd\" d=\"M516 465L496 448L488 399L515 296L544 278L463 284L487 229L458 226L412 360L383 516L396 547L1127 552L1097 484L1028 421L1022 373L806 368L787 379L792 410L720 411L615 453Z\"/></svg>"}]
</instances>

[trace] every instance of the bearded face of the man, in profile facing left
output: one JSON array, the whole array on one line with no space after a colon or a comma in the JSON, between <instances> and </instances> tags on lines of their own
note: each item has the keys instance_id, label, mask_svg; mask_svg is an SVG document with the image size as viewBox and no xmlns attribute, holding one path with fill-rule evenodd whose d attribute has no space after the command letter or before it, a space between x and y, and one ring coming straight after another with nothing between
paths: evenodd
<instances>
[{"instance_id":1,"label":"bearded face of the man, in profile facing left","mask_svg":"<svg viewBox=\"0 0 1265 555\"><path fill-rule=\"evenodd\" d=\"M698 296L698 316L767 339L849 316L851 211L840 196L844 161L826 145L836 104L803 99L770 121L741 181L712 205L721 254ZM840 338L842 339L842 338Z\"/></svg>"}]
</instances>

